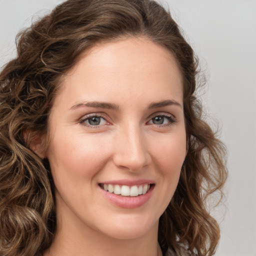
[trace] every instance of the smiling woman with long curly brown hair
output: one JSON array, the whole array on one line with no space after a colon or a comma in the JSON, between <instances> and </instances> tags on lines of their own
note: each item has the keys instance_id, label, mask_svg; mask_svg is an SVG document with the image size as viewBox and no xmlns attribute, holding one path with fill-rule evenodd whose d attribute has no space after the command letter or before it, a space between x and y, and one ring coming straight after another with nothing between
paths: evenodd
<instances>
[{"instance_id":1,"label":"smiling woman with long curly brown hair","mask_svg":"<svg viewBox=\"0 0 256 256\"><path fill-rule=\"evenodd\" d=\"M148 0L67 0L0 74L0 254L213 255L226 178L197 61Z\"/></svg>"}]
</instances>

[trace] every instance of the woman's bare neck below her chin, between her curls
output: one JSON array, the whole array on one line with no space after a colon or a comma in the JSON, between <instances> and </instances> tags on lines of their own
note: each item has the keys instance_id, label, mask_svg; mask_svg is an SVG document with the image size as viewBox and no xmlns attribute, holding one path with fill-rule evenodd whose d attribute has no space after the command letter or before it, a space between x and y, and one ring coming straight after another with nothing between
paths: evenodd
<instances>
[{"instance_id":1,"label":"woman's bare neck below her chin, between her curls","mask_svg":"<svg viewBox=\"0 0 256 256\"><path fill-rule=\"evenodd\" d=\"M88 226L77 230L77 225L58 225L53 243L43 256L162 256L157 226L139 237L118 239Z\"/></svg>"}]
</instances>

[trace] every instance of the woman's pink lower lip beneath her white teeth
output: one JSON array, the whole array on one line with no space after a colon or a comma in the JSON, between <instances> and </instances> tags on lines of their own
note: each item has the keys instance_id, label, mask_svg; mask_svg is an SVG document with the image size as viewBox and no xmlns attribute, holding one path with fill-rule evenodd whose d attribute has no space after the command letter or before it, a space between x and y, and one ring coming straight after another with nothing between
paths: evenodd
<instances>
[{"instance_id":1,"label":"woman's pink lower lip beneath her white teeth","mask_svg":"<svg viewBox=\"0 0 256 256\"><path fill-rule=\"evenodd\" d=\"M110 201L112 204L121 207L121 208L137 208L146 203L151 194L152 190L154 188L153 186L150 186L149 190L145 194L141 194L138 196L122 196L120 194L114 194L114 193L109 193L99 187L101 192L103 193L104 197Z\"/></svg>"}]
</instances>

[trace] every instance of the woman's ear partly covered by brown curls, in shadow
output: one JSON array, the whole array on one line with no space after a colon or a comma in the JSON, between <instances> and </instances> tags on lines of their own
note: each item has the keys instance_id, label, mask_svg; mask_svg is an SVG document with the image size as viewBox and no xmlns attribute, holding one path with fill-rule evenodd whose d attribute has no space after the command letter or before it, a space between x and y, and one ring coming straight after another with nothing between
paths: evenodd
<instances>
[{"instance_id":1,"label":"woman's ear partly covered by brown curls, in shadow","mask_svg":"<svg viewBox=\"0 0 256 256\"><path fill-rule=\"evenodd\" d=\"M25 144L41 159L45 157L45 135L38 131L26 129L23 131Z\"/></svg>"}]
</instances>

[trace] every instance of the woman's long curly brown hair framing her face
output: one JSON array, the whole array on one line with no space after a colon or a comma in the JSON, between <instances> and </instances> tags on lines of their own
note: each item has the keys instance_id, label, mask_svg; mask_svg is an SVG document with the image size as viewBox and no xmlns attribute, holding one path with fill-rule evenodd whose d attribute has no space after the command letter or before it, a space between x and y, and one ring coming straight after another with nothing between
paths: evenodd
<instances>
[{"instance_id":1,"label":"woman's long curly brown hair framing her face","mask_svg":"<svg viewBox=\"0 0 256 256\"><path fill-rule=\"evenodd\" d=\"M50 166L29 144L47 133L60 76L95 43L129 36L167 48L183 76L188 151L176 191L159 219L158 242L163 252L168 247L178 252L182 244L191 255L214 254L219 227L206 198L222 194L225 147L203 120L192 48L155 1L67 0L17 35L17 57L0 73L0 255L40 255L53 240Z\"/></svg>"}]
</instances>

